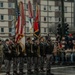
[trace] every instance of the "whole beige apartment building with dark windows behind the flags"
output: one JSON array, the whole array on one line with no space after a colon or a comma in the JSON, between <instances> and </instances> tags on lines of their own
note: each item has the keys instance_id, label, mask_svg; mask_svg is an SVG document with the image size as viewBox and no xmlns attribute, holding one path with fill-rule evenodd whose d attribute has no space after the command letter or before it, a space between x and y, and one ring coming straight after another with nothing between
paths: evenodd
<instances>
[{"instance_id":1,"label":"whole beige apartment building with dark windows behind the flags","mask_svg":"<svg viewBox=\"0 0 75 75\"><path fill-rule=\"evenodd\" d=\"M25 34L30 36L28 25L28 0L23 1L26 17ZM58 23L61 23L61 0L30 0L35 13L36 2L40 5L40 33L46 36L56 33ZM0 37L10 36L12 20L15 16L15 0L0 0ZM74 0L64 0L64 22L69 24L69 30L74 30ZM33 33L32 33L33 34Z\"/></svg>"}]
</instances>

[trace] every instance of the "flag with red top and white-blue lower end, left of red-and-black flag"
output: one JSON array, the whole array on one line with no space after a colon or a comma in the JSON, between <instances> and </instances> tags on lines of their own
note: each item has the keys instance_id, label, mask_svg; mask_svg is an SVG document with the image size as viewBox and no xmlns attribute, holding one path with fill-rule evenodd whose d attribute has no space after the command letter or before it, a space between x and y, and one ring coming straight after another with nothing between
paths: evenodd
<instances>
[{"instance_id":1,"label":"flag with red top and white-blue lower end, left of red-and-black flag","mask_svg":"<svg viewBox=\"0 0 75 75\"><path fill-rule=\"evenodd\" d=\"M33 28L33 9L30 0L28 1L28 21L29 21L29 30L31 32Z\"/></svg>"}]
</instances>

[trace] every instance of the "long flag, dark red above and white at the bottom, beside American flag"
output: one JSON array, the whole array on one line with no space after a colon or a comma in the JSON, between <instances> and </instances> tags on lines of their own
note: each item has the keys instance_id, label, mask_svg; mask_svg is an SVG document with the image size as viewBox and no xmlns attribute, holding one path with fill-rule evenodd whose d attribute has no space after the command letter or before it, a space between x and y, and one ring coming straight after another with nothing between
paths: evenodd
<instances>
[{"instance_id":1,"label":"long flag, dark red above and white at the bottom, beside American flag","mask_svg":"<svg viewBox=\"0 0 75 75\"><path fill-rule=\"evenodd\" d=\"M26 21L25 21L25 12L24 12L24 5L23 5L23 2L20 1L19 3L19 9L20 9L20 15L21 15L21 32L20 32L20 43L21 43L21 46L22 46L22 49L23 51L25 51L25 24L26 24Z\"/></svg>"}]
</instances>

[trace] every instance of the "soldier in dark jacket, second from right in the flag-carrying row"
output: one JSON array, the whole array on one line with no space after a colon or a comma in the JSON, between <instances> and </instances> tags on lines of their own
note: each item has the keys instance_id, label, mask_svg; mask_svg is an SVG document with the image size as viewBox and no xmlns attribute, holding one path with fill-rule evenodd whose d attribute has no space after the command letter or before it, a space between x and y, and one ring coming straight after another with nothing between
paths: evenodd
<instances>
[{"instance_id":1,"label":"soldier in dark jacket, second from right in the flag-carrying row","mask_svg":"<svg viewBox=\"0 0 75 75\"><path fill-rule=\"evenodd\" d=\"M46 48L46 45L45 45L43 37L40 38L39 47L40 47L40 70L44 71L44 57L45 57L45 48Z\"/></svg>"}]
</instances>

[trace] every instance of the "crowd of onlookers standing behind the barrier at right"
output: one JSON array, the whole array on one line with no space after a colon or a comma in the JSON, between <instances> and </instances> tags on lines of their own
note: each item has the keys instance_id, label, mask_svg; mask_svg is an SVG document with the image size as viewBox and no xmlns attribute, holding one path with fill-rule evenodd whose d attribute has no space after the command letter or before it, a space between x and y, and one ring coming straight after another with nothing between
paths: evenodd
<instances>
[{"instance_id":1,"label":"crowd of onlookers standing behind the barrier at right","mask_svg":"<svg viewBox=\"0 0 75 75\"><path fill-rule=\"evenodd\" d=\"M75 64L75 38L71 36L59 37L54 43L53 51L54 63L60 64Z\"/></svg>"}]
</instances>

